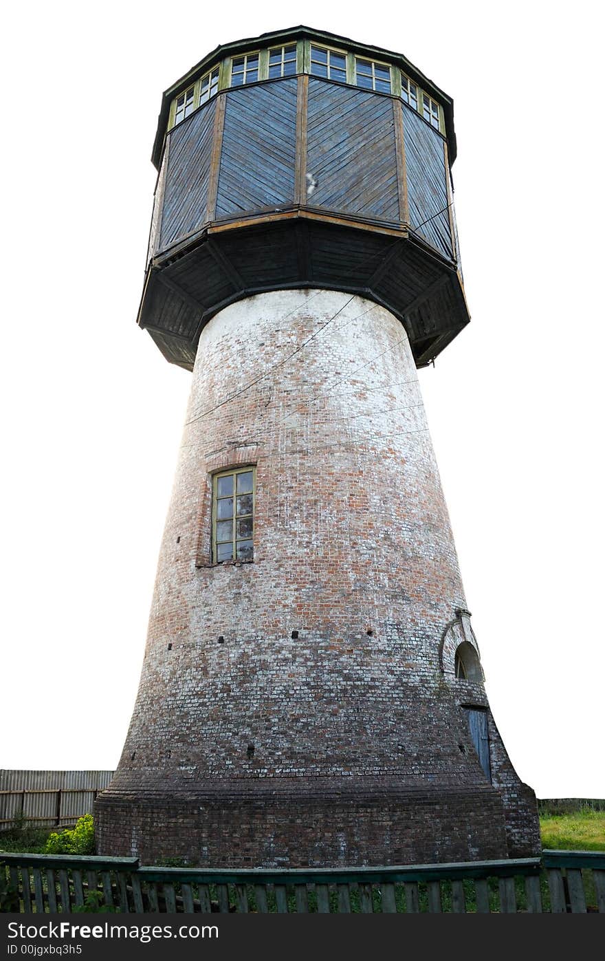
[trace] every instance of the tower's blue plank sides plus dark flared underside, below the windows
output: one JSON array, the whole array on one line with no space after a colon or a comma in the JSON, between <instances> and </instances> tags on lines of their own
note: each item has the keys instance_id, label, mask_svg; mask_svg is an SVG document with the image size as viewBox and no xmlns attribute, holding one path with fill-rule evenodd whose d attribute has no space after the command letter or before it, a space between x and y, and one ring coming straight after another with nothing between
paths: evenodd
<instances>
[{"instance_id":1,"label":"tower's blue plank sides plus dark flared underside, below the windows","mask_svg":"<svg viewBox=\"0 0 605 961\"><path fill-rule=\"evenodd\" d=\"M427 363L469 320L444 142L399 99L308 74L218 93L167 138L139 324L191 368L234 300L323 286L390 309Z\"/></svg>"}]
</instances>

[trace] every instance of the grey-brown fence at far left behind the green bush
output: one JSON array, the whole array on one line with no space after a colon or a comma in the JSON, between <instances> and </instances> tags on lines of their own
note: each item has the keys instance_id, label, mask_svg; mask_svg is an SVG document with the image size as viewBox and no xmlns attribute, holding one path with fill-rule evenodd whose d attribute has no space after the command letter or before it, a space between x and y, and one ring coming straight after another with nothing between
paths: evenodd
<instances>
[{"instance_id":1,"label":"grey-brown fence at far left behind the green bush","mask_svg":"<svg viewBox=\"0 0 605 961\"><path fill-rule=\"evenodd\" d=\"M32 826L75 825L92 812L112 771L0 771L0 830L15 818Z\"/></svg>"}]
</instances>

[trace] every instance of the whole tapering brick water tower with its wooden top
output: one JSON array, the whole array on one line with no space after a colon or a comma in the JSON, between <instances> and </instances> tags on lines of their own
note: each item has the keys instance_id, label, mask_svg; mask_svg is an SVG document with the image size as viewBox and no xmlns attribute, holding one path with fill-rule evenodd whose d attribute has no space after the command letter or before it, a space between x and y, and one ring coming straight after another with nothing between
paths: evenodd
<instances>
[{"instance_id":1,"label":"whole tapering brick water tower with its wooden top","mask_svg":"<svg viewBox=\"0 0 605 961\"><path fill-rule=\"evenodd\" d=\"M304 27L218 47L164 94L138 323L193 382L102 853L539 850L417 374L469 320L454 156L443 90Z\"/></svg>"}]
</instances>

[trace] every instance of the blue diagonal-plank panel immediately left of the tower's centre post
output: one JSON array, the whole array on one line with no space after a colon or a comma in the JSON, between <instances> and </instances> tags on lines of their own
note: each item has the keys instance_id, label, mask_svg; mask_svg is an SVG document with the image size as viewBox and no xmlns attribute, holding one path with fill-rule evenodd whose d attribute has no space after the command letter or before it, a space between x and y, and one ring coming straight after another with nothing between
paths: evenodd
<instances>
[{"instance_id":1,"label":"blue diagonal-plank panel immediately left of the tower's centre post","mask_svg":"<svg viewBox=\"0 0 605 961\"><path fill-rule=\"evenodd\" d=\"M216 217L294 202L296 78L230 90Z\"/></svg>"}]
</instances>

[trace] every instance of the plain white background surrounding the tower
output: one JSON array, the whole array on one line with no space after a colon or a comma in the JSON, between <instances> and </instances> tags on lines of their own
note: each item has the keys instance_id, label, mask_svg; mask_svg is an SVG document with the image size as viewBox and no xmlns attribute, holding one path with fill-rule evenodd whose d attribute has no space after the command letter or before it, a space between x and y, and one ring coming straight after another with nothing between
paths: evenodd
<instances>
[{"instance_id":1,"label":"plain white background surrounding the tower","mask_svg":"<svg viewBox=\"0 0 605 961\"><path fill-rule=\"evenodd\" d=\"M134 323L160 95L218 43L304 22L404 53L454 99L472 324L421 371L429 424L511 758L540 797L605 797L596 10L5 14L0 766L117 764L190 382Z\"/></svg>"}]
</instances>

